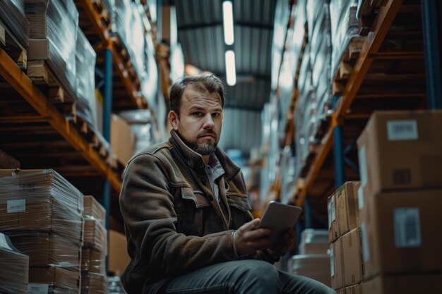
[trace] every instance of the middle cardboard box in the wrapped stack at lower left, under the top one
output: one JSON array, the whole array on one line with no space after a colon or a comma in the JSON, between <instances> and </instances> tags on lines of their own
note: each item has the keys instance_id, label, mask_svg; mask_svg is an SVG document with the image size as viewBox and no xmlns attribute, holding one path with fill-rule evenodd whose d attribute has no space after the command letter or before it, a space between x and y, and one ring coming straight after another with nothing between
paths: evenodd
<instances>
[{"instance_id":1,"label":"middle cardboard box in the wrapped stack at lower left, under the top one","mask_svg":"<svg viewBox=\"0 0 442 294\"><path fill-rule=\"evenodd\" d=\"M80 269L81 247L54 233L26 232L9 235L12 243L29 255L30 267L63 266Z\"/></svg>"}]
</instances>

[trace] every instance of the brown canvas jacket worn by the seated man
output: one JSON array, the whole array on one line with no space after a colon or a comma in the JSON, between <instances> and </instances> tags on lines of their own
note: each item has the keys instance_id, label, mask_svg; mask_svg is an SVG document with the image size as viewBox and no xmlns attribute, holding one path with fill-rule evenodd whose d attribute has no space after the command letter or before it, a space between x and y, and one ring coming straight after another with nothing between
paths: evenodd
<instances>
[{"instance_id":1,"label":"brown canvas jacket worn by the seated man","mask_svg":"<svg viewBox=\"0 0 442 294\"><path fill-rule=\"evenodd\" d=\"M225 152L215 152L225 170L218 203L201 155L171 135L133 156L124 173L119 201L131 262L121 281L129 294L162 293L174 276L238 259L232 232L253 219L242 173Z\"/></svg>"}]
</instances>

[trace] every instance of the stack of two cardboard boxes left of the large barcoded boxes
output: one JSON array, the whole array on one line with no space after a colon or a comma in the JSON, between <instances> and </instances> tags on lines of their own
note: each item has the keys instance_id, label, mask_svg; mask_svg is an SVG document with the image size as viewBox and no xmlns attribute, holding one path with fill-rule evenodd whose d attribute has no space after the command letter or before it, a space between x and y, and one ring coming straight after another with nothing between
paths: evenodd
<instances>
[{"instance_id":1,"label":"stack of two cardboard boxes left of the large barcoded boxes","mask_svg":"<svg viewBox=\"0 0 442 294\"><path fill-rule=\"evenodd\" d=\"M328 238L332 288L357 293L364 281L357 190L359 182L347 182L328 198ZM351 292L348 292L351 291Z\"/></svg>"}]
</instances>

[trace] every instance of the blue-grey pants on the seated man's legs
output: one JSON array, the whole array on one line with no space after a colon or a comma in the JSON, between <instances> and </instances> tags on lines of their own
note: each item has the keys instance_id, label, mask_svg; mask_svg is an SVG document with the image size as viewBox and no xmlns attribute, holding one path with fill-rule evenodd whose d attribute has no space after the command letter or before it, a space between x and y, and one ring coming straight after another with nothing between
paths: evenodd
<instances>
[{"instance_id":1,"label":"blue-grey pants on the seated man's legs","mask_svg":"<svg viewBox=\"0 0 442 294\"><path fill-rule=\"evenodd\" d=\"M279 271L259 260L222 262L170 281L166 293L335 294L323 283Z\"/></svg>"}]
</instances>

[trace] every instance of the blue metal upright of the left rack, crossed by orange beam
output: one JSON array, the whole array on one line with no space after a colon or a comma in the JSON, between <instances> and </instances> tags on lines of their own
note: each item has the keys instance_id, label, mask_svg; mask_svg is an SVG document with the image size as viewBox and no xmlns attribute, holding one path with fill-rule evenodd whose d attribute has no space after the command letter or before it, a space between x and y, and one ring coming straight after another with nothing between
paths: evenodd
<instances>
[{"instance_id":1,"label":"blue metal upright of the left rack, crossed by orange beam","mask_svg":"<svg viewBox=\"0 0 442 294\"><path fill-rule=\"evenodd\" d=\"M110 46L110 45L109 45ZM110 142L110 122L112 111L112 49L104 50L104 102L103 102L103 136ZM106 209L106 228L109 229L110 184L104 180L102 205Z\"/></svg>"}]
</instances>

